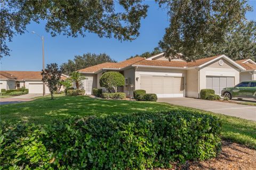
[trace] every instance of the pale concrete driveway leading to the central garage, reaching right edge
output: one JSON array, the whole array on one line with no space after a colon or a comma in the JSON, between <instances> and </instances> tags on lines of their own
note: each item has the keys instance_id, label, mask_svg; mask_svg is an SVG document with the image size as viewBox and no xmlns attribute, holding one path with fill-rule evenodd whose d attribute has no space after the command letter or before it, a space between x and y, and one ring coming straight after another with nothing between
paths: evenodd
<instances>
[{"instance_id":1,"label":"pale concrete driveway leading to the central garage, reaching right edge","mask_svg":"<svg viewBox=\"0 0 256 170\"><path fill-rule=\"evenodd\" d=\"M193 107L202 109L204 111L256 121L256 106L223 103L220 101L209 101L194 98L159 98L157 101L166 102L173 105Z\"/></svg>"}]
</instances>

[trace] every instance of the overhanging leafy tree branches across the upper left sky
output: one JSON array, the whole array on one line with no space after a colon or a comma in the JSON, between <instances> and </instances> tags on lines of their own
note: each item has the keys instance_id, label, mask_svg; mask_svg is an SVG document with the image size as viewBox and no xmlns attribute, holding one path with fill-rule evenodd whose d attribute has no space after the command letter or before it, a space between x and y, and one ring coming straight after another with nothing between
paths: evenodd
<instances>
[{"instance_id":1,"label":"overhanging leafy tree branches across the upper left sky","mask_svg":"<svg viewBox=\"0 0 256 170\"><path fill-rule=\"evenodd\" d=\"M24 33L31 21L46 20L45 30L52 36L62 33L84 37L93 32L99 37L133 40L139 36L140 20L147 16L147 8L141 1L3 1L0 58L10 55L6 40L12 41L13 36Z\"/></svg>"}]
</instances>

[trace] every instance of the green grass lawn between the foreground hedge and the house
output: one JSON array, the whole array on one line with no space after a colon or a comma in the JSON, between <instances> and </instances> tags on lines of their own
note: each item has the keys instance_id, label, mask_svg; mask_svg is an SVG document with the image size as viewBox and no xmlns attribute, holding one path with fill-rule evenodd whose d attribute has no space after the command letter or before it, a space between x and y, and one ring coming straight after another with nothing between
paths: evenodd
<instances>
[{"instance_id":1,"label":"green grass lawn between the foreground hedge and the house","mask_svg":"<svg viewBox=\"0 0 256 170\"><path fill-rule=\"evenodd\" d=\"M1 106L1 120L12 123L21 121L47 124L51 123L52 120L75 115L130 114L141 111L167 111L173 108L193 109L147 101L93 99L86 96L54 96L56 96L54 100L50 100L50 96L46 96L26 103L3 105ZM221 118L223 139L256 149L255 121L202 112Z\"/></svg>"}]
</instances>

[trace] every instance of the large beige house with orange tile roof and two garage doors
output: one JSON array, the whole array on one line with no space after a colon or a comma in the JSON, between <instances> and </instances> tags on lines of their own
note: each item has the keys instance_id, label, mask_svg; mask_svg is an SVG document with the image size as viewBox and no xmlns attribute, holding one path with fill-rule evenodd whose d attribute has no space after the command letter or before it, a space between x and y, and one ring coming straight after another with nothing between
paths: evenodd
<instances>
[{"instance_id":1,"label":"large beige house with orange tile roof and two garage doors","mask_svg":"<svg viewBox=\"0 0 256 170\"><path fill-rule=\"evenodd\" d=\"M163 53L149 57L134 57L119 63L102 63L78 70L87 77L85 94L101 88L99 79L107 71L124 75L125 86L119 91L132 96L135 89L144 89L158 97L199 97L201 89L213 89L220 94L222 88L239 83L239 73L246 69L225 55L203 58L194 62L181 59L169 61Z\"/></svg>"}]
</instances>

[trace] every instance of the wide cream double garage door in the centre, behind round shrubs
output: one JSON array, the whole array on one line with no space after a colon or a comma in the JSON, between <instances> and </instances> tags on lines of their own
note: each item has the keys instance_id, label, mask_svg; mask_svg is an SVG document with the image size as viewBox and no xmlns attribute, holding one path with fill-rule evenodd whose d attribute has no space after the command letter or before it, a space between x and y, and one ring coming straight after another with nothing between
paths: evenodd
<instances>
[{"instance_id":1,"label":"wide cream double garage door in the centre, behind round shrubs","mask_svg":"<svg viewBox=\"0 0 256 170\"><path fill-rule=\"evenodd\" d=\"M184 97L184 79L181 77L141 76L140 88L157 97Z\"/></svg>"}]
</instances>

